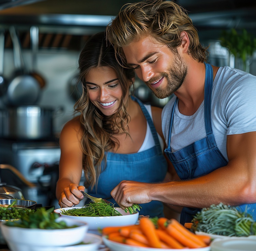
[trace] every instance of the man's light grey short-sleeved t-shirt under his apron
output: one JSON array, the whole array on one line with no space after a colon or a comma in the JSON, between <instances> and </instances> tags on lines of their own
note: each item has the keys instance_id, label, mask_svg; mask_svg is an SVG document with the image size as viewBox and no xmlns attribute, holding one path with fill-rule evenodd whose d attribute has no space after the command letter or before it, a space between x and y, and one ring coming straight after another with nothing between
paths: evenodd
<instances>
[{"instance_id":1,"label":"man's light grey short-sleeved t-shirt under his apron","mask_svg":"<svg viewBox=\"0 0 256 251\"><path fill-rule=\"evenodd\" d=\"M162 131L166 144L175 99L176 96L162 112ZM217 147L228 161L227 135L256 131L256 77L228 66L220 67L213 82L211 116ZM181 114L176 105L170 144L172 152L204 137L204 102L191 116Z\"/></svg>"}]
</instances>

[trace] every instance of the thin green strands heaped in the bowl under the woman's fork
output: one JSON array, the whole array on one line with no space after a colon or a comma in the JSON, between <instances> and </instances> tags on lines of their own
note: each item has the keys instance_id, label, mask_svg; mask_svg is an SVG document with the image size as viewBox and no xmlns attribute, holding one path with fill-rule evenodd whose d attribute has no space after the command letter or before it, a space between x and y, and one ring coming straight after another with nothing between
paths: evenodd
<instances>
[{"instance_id":1,"label":"thin green strands heaped in the bowl under the woman's fork","mask_svg":"<svg viewBox=\"0 0 256 251\"><path fill-rule=\"evenodd\" d=\"M113 203L90 202L82 208L72 208L65 210L62 208L61 214L72 216L122 216L115 210Z\"/></svg>"}]
</instances>

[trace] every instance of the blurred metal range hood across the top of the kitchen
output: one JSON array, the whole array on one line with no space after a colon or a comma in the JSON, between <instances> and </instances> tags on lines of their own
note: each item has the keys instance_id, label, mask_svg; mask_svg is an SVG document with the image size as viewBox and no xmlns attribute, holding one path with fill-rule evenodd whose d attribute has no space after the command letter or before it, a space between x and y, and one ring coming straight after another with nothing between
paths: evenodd
<instances>
[{"instance_id":1,"label":"blurred metal range hood across the top of the kitchen","mask_svg":"<svg viewBox=\"0 0 256 251\"><path fill-rule=\"evenodd\" d=\"M140 0L0 0L0 29L15 26L21 37L32 25L43 34L90 36L106 25L128 2ZM201 40L218 39L221 31L245 28L256 37L256 1L176 0L198 29ZM24 34L23 34L24 33ZM49 39L48 35L48 39ZM62 37L62 39L64 39ZM43 44L43 41L41 40ZM42 46L41 44L41 46ZM56 44L56 43L55 43Z\"/></svg>"}]
</instances>

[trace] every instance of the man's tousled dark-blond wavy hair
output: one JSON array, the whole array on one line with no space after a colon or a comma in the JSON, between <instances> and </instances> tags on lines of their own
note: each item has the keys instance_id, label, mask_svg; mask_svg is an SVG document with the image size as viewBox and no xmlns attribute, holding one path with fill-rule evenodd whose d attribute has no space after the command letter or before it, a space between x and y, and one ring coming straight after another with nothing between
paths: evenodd
<instances>
[{"instance_id":1,"label":"man's tousled dark-blond wavy hair","mask_svg":"<svg viewBox=\"0 0 256 251\"><path fill-rule=\"evenodd\" d=\"M203 63L207 49L199 42L197 29L185 9L173 1L144 0L125 4L106 28L106 36L114 46L116 54L126 65L122 47L150 35L157 43L176 50L181 45L181 32L186 31L190 40L188 53Z\"/></svg>"}]
</instances>

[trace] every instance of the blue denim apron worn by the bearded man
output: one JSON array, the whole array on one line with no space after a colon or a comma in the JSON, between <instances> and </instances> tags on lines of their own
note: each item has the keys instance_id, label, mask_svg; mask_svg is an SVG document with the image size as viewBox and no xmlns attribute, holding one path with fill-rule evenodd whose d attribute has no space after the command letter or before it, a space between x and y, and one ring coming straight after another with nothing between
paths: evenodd
<instances>
[{"instance_id":1,"label":"blue denim apron worn by the bearded man","mask_svg":"<svg viewBox=\"0 0 256 251\"><path fill-rule=\"evenodd\" d=\"M173 116L175 106L178 98L176 98L170 121L168 147L165 149L167 156L172 162L177 174L181 180L188 180L198 178L205 174L208 174L219 167L226 166L228 164L225 157L219 151L215 138L212 132L211 123L211 102L212 102L212 84L213 84L213 69L212 66L205 63L205 84L204 84L204 122L206 137L195 141L193 144L186 146L178 151L172 152L171 143L171 131L173 124ZM253 215L256 218L256 204L243 204L237 207L240 211ZM199 212L199 208L184 207L181 212L180 222L191 222L193 216ZM253 212L255 211L255 212Z\"/></svg>"}]
</instances>

